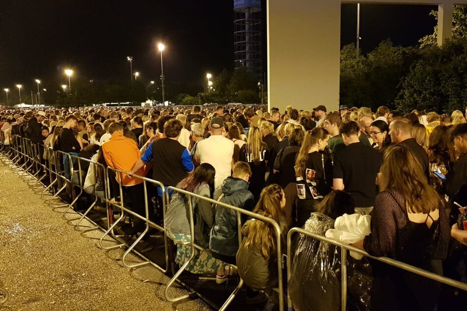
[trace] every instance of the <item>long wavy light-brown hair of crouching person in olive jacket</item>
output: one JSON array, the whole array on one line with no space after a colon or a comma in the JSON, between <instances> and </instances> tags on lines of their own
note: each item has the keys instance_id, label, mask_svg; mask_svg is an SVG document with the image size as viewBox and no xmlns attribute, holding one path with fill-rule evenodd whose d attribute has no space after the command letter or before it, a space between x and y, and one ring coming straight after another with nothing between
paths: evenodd
<instances>
[{"instance_id":1,"label":"long wavy light-brown hair of crouching person in olive jacket","mask_svg":"<svg viewBox=\"0 0 467 311\"><path fill-rule=\"evenodd\" d=\"M285 217L280 207L283 197L282 188L278 184L271 184L261 191L261 196L253 212L269 217L278 223L279 215ZM265 260L268 260L276 250L275 241L277 236L275 235L274 227L270 223L256 219L251 222L249 233L244 239L245 249L248 250L254 245L259 244L261 255Z\"/></svg>"}]
</instances>

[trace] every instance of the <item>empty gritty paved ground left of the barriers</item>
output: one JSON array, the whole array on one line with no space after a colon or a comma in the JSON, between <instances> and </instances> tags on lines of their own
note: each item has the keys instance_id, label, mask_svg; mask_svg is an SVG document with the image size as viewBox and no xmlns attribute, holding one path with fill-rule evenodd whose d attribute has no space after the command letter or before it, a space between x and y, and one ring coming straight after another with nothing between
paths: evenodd
<instances>
[{"instance_id":1,"label":"empty gritty paved ground left of the barriers","mask_svg":"<svg viewBox=\"0 0 467 311\"><path fill-rule=\"evenodd\" d=\"M101 231L81 233L72 223L0 163L0 286L10 293L5 305L17 311L210 310L199 299L167 302L168 277L152 266L125 268L121 249L98 248Z\"/></svg>"}]
</instances>

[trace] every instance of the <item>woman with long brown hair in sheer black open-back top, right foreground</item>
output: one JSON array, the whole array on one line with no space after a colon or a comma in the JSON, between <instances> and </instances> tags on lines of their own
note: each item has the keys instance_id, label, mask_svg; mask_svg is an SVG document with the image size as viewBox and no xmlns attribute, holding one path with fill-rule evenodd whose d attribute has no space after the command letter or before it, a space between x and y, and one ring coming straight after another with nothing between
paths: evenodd
<instances>
[{"instance_id":1,"label":"woman with long brown hair in sheer black open-back top, right foreground","mask_svg":"<svg viewBox=\"0 0 467 311\"><path fill-rule=\"evenodd\" d=\"M380 172L371 233L356 246L442 275L450 235L440 196L405 146L388 148ZM437 282L389 265L375 265L373 274L374 310L436 310Z\"/></svg>"}]
</instances>

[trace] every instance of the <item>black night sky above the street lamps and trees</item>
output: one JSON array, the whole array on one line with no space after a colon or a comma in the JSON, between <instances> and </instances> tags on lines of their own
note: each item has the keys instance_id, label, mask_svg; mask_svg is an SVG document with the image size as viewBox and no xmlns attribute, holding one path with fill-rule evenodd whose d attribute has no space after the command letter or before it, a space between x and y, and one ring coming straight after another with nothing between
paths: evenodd
<instances>
[{"instance_id":1,"label":"black night sky above the street lamps and trees","mask_svg":"<svg viewBox=\"0 0 467 311\"><path fill-rule=\"evenodd\" d=\"M433 32L432 9L361 5L361 49L370 52L385 39L416 45ZM0 87L13 91L22 83L30 93L39 78L58 89L67 67L90 79L130 79L129 55L140 78L159 82L160 41L166 81L201 84L206 72L233 69L233 18L233 0L2 0ZM355 42L356 19L357 4L343 4L342 46Z\"/></svg>"}]
</instances>

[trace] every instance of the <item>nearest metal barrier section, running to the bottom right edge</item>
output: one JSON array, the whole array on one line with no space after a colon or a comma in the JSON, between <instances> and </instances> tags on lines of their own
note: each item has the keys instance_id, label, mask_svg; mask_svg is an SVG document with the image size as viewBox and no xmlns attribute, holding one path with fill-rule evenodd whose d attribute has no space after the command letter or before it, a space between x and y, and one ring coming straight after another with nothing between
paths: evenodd
<instances>
[{"instance_id":1,"label":"nearest metal barrier section, running to the bottom right edge","mask_svg":"<svg viewBox=\"0 0 467 311\"><path fill-rule=\"evenodd\" d=\"M330 239L330 238L328 238L326 236L311 233L311 232L308 232L308 231L303 230L301 228L292 228L292 229L290 229L289 233L287 234L287 281L289 281L290 278L291 278L292 259L293 259L292 236L294 235L294 233L300 233L300 234L303 234L303 235L307 235L309 237L312 237L312 238L318 239L320 241L324 241L324 242L339 246L341 248L341 310L342 311L345 311L346 307L347 307L347 250L353 251L355 253L366 256L368 258L372 258L372 259L384 262L384 263L386 263L388 265L391 265L391 266L394 266L394 267L397 267L397 268L400 268L400 269L403 269L403 270L418 274L418 275L420 275L422 277L425 277L425 278L428 278L428 279L431 279L431 280L434 280L434 281L438 281L440 283L450 285L450 286L453 286L453 287L456 287L456 288L459 288L459 289L467 290L467 284L466 283L462 283L462 282L459 282L459 281L455 281L455 280L440 276L440 275L438 275L436 273L420 269L418 267L412 266L412 265L410 265L408 263L398 261L398 260L395 260L395 259L390 259L390 258L387 258L387 257L374 257L374 256L369 255L367 252L365 252L364 250L361 250L359 248L356 248L356 247L353 247L353 246L350 246L350 245L344 245L344 244L342 244L340 242L337 242L335 240L332 240L332 239ZM292 310L293 306L292 306L292 301L290 300L289 293L287 293L287 303L288 303L288 309Z\"/></svg>"}]
</instances>

